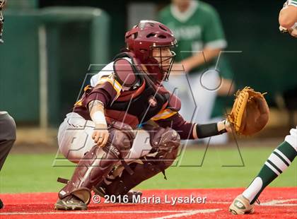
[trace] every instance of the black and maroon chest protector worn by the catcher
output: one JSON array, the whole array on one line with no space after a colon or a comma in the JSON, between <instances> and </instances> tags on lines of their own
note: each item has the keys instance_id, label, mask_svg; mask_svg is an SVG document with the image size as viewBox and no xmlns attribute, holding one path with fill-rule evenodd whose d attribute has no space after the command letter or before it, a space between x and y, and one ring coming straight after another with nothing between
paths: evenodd
<instances>
[{"instance_id":1,"label":"black and maroon chest protector worn by the catcher","mask_svg":"<svg viewBox=\"0 0 297 219\"><path fill-rule=\"evenodd\" d=\"M121 77L121 73L119 68L115 68L115 65L117 65L117 61L121 59L123 61L124 57L132 59L131 67L134 75L136 76L135 78L137 85L134 83L134 85L132 85L129 90L122 92L120 97L118 97L117 100L112 102L106 108L132 114L134 117L137 117L139 124L141 124L151 119L151 117L158 114L161 109L164 109L168 105L170 93L162 86L157 87L156 85L153 85L151 78L148 78L146 73L139 69L139 66L134 63L134 58L131 57L129 53L122 53L115 57L114 71L117 77ZM127 63L129 62L127 61ZM127 74L127 70L125 73ZM124 78L124 76L122 76L122 78ZM122 79L120 81L124 80Z\"/></svg>"}]
</instances>

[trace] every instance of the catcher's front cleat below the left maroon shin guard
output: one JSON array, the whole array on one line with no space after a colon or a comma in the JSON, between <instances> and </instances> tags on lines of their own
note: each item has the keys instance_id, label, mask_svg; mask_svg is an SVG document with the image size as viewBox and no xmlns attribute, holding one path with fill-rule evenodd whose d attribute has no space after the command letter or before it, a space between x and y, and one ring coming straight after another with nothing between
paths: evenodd
<instances>
[{"instance_id":1,"label":"catcher's front cleat below the left maroon shin guard","mask_svg":"<svg viewBox=\"0 0 297 219\"><path fill-rule=\"evenodd\" d=\"M88 207L86 203L81 201L81 199L76 198L76 196L66 196L64 199L58 199L54 204L55 210L64 210L64 211L81 211L87 210Z\"/></svg>"}]
</instances>

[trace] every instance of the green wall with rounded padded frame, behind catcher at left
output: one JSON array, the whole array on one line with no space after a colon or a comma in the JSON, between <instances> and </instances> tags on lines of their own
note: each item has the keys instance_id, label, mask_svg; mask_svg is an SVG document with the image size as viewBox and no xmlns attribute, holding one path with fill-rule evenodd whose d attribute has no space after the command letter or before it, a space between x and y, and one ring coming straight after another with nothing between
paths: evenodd
<instances>
[{"instance_id":1,"label":"green wall with rounded padded frame, behind catcher at left","mask_svg":"<svg viewBox=\"0 0 297 219\"><path fill-rule=\"evenodd\" d=\"M38 124L40 100L45 99L40 93L43 72L47 122L56 126L76 101L88 66L109 59L109 16L91 7L8 8L4 16L0 109L10 112L20 124ZM43 50L40 28L45 30Z\"/></svg>"}]
</instances>

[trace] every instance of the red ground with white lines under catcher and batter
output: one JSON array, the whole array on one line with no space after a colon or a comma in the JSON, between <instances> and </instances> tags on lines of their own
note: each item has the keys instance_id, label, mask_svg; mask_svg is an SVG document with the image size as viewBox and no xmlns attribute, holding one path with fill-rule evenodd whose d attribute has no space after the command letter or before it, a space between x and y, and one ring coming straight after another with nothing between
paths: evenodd
<instances>
[{"instance_id":1,"label":"red ground with white lines under catcher and batter","mask_svg":"<svg viewBox=\"0 0 297 219\"><path fill-rule=\"evenodd\" d=\"M93 203L98 202L94 199L88 211L54 211L55 193L1 194L5 207L0 210L0 218L297 218L297 187L267 188L253 215L230 215L228 206L241 191L147 190L136 200L141 203L104 203L104 199Z\"/></svg>"}]
</instances>

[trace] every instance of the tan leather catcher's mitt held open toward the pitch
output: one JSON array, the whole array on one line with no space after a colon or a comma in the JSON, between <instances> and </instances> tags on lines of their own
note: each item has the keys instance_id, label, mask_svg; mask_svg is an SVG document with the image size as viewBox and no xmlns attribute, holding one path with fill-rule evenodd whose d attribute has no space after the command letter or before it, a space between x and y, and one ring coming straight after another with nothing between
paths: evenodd
<instances>
[{"instance_id":1,"label":"tan leather catcher's mitt held open toward the pitch","mask_svg":"<svg viewBox=\"0 0 297 219\"><path fill-rule=\"evenodd\" d=\"M238 90L228 121L237 134L250 136L264 128L269 119L269 107L264 94L250 87Z\"/></svg>"}]
</instances>

